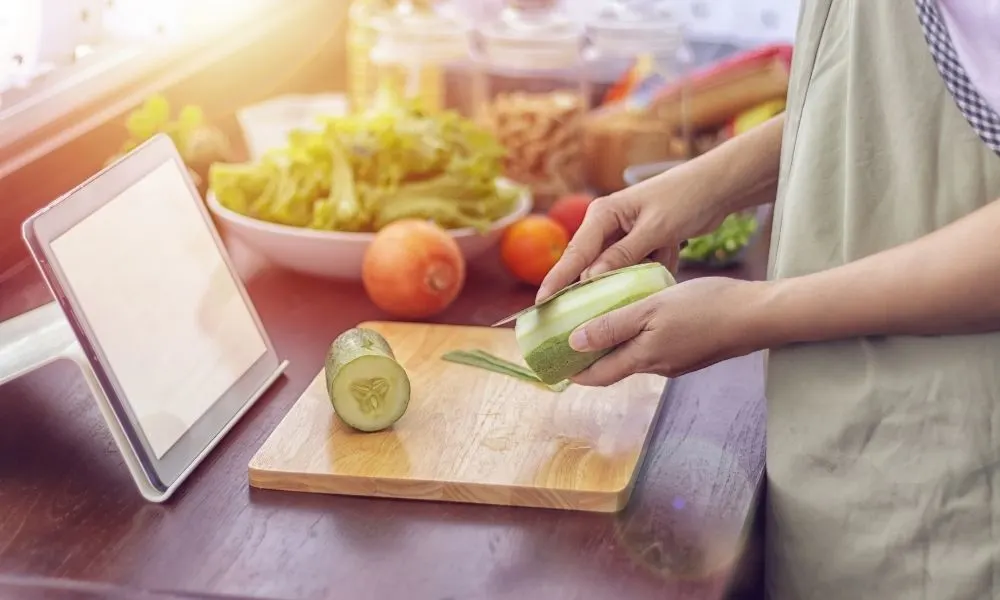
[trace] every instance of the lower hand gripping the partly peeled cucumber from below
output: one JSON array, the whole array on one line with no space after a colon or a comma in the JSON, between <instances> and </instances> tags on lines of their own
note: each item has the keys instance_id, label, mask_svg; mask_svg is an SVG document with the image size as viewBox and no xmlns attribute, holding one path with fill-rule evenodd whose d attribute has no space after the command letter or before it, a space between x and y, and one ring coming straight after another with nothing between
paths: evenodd
<instances>
[{"instance_id":1,"label":"lower hand gripping the partly peeled cucumber from below","mask_svg":"<svg viewBox=\"0 0 1000 600\"><path fill-rule=\"evenodd\" d=\"M693 279L597 317L573 332L570 346L580 352L618 347L570 380L605 386L633 373L678 377L753 352L759 348L751 323L762 285Z\"/></svg>"}]
</instances>

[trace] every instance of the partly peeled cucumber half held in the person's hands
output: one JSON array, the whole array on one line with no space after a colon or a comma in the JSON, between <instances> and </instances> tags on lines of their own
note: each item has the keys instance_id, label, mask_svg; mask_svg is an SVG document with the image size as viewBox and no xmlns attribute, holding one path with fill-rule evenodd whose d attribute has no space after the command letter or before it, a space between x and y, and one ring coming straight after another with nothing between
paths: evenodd
<instances>
[{"instance_id":1,"label":"partly peeled cucumber half held in the person's hands","mask_svg":"<svg viewBox=\"0 0 1000 600\"><path fill-rule=\"evenodd\" d=\"M569 346L574 329L674 284L659 263L641 263L599 276L518 317L514 325L524 362L547 384L568 379L611 352L577 352Z\"/></svg>"}]
</instances>

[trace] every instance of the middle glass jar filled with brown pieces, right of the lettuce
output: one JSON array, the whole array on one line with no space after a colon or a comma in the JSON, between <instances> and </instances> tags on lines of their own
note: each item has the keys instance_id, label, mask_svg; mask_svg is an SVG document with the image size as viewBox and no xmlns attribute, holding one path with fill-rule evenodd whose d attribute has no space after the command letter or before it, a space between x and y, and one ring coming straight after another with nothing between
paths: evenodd
<instances>
[{"instance_id":1,"label":"middle glass jar filled with brown pieces, right of the lettuce","mask_svg":"<svg viewBox=\"0 0 1000 600\"><path fill-rule=\"evenodd\" d=\"M581 25L551 0L507 0L474 39L476 117L506 148L505 175L531 190L539 211L582 191Z\"/></svg>"}]
</instances>

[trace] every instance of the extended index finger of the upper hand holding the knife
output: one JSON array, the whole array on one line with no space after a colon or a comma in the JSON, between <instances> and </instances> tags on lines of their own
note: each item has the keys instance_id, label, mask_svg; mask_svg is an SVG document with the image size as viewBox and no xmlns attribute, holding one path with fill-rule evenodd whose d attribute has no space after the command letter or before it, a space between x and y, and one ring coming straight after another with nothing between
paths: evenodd
<instances>
[{"instance_id":1,"label":"extended index finger of the upper hand holding the knife","mask_svg":"<svg viewBox=\"0 0 1000 600\"><path fill-rule=\"evenodd\" d=\"M536 302L576 281L601 253L605 240L621 229L614 210L606 208L604 201L603 198L595 200L587 209L583 223L573 235L559 262L549 270L538 287Z\"/></svg>"}]
</instances>

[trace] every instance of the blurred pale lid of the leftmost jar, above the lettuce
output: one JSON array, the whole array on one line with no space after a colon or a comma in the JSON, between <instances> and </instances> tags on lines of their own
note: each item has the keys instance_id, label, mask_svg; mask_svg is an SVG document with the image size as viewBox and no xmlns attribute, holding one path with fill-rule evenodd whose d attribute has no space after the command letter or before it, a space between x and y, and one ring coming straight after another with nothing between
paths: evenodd
<instances>
[{"instance_id":1,"label":"blurred pale lid of the leftmost jar, above the lettuce","mask_svg":"<svg viewBox=\"0 0 1000 600\"><path fill-rule=\"evenodd\" d=\"M469 27L448 7L421 8L400 2L372 19L376 63L446 63L469 55Z\"/></svg>"}]
</instances>

